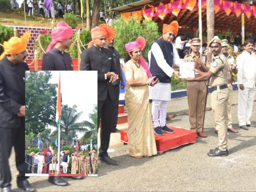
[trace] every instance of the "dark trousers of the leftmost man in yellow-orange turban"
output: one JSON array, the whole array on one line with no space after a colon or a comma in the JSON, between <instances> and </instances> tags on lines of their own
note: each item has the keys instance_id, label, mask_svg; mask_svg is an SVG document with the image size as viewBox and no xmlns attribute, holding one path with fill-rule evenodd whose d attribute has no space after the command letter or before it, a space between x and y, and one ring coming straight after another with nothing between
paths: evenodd
<instances>
[{"instance_id":1,"label":"dark trousers of the leftmost man in yellow-orange turban","mask_svg":"<svg viewBox=\"0 0 256 192\"><path fill-rule=\"evenodd\" d=\"M18 128L0 128L0 174L1 187L9 187L12 180L10 172L9 157L12 151L12 146L15 150L16 168L20 172L17 176L17 181L25 180L25 127Z\"/></svg>"}]
</instances>

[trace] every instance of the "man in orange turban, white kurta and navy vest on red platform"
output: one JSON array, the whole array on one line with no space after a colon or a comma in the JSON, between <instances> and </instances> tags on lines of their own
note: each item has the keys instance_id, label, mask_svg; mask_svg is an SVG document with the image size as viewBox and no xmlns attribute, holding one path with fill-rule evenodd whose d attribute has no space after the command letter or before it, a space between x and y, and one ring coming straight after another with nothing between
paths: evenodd
<instances>
[{"instance_id":1,"label":"man in orange turban, white kurta and navy vest on red platform","mask_svg":"<svg viewBox=\"0 0 256 192\"><path fill-rule=\"evenodd\" d=\"M163 37L155 41L151 47L149 69L152 76L159 79L155 87L149 87L149 99L152 99L152 119L156 135L163 132L174 133L174 130L166 126L166 108L171 100L171 76L179 77L172 65L179 63L177 53L172 40L178 32L177 21L171 24L163 24Z\"/></svg>"}]
</instances>

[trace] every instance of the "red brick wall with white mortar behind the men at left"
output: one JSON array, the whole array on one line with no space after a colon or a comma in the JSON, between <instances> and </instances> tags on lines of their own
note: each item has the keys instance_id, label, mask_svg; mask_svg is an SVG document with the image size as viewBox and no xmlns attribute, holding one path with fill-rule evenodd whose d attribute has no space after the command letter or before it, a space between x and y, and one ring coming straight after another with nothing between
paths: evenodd
<instances>
[{"instance_id":1,"label":"red brick wall with white mortar behind the men at left","mask_svg":"<svg viewBox=\"0 0 256 192\"><path fill-rule=\"evenodd\" d=\"M27 50L29 51L29 54L27 54L27 59L34 59L35 40L40 34L43 34L43 30L44 29L49 30L50 34L52 30L51 28L46 28L46 27L26 27L26 26L8 26L8 27L15 27L19 36L23 35L27 30L31 32L29 42L27 43Z\"/></svg>"}]
</instances>

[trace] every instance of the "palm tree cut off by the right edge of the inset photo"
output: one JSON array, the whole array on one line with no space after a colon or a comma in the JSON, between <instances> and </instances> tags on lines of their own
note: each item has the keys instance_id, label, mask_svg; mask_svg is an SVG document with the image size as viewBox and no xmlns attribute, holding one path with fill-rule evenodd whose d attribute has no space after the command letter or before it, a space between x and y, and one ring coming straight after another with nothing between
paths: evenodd
<instances>
[{"instance_id":1,"label":"palm tree cut off by the right edge of the inset photo","mask_svg":"<svg viewBox=\"0 0 256 192\"><path fill-rule=\"evenodd\" d=\"M88 127L88 131L85 132L84 136L81 140L85 143L85 141L92 140L93 143L97 143L98 137L98 106L94 106L93 112L89 114L89 118L91 122L84 121L85 126Z\"/></svg>"}]
</instances>

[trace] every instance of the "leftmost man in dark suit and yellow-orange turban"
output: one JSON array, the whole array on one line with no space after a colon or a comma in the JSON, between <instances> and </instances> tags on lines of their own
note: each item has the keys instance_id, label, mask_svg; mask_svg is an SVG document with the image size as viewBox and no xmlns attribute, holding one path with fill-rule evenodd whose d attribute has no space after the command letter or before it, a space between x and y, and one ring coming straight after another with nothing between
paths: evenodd
<instances>
[{"instance_id":1,"label":"leftmost man in dark suit and yellow-orange turban","mask_svg":"<svg viewBox=\"0 0 256 192\"><path fill-rule=\"evenodd\" d=\"M15 149L18 188L34 191L25 176L25 71L24 62L30 32L4 41L0 56L0 175L1 190L12 191L9 157Z\"/></svg>"}]
</instances>

